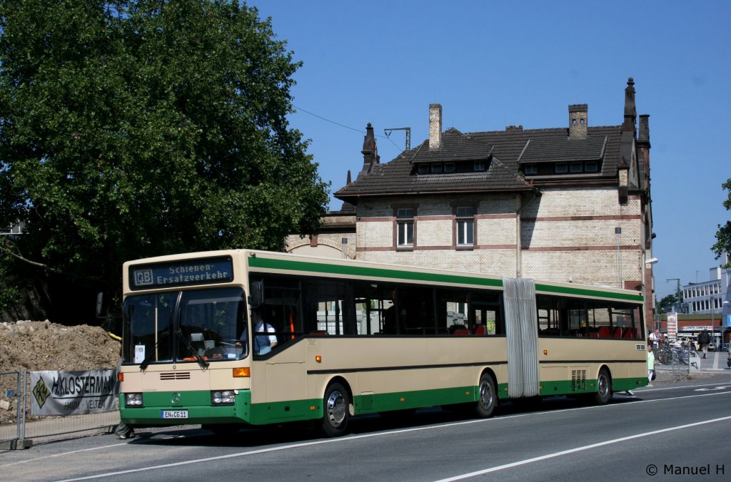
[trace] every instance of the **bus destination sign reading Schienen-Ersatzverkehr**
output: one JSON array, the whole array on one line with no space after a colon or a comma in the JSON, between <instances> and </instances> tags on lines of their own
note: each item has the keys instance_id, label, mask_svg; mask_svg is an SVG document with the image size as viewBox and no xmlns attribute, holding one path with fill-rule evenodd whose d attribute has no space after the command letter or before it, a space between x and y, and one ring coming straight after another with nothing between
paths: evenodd
<instances>
[{"instance_id":1,"label":"bus destination sign reading Schienen-Ersatzverkehr","mask_svg":"<svg viewBox=\"0 0 731 482\"><path fill-rule=\"evenodd\" d=\"M163 261L129 267L129 287L132 289L226 283L232 280L233 261L230 256Z\"/></svg>"}]
</instances>

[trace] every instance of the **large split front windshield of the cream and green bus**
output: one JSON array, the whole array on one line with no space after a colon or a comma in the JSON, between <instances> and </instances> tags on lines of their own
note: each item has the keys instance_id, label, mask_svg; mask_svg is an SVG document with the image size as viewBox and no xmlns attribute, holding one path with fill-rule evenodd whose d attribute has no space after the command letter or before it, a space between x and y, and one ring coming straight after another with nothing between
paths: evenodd
<instances>
[{"instance_id":1,"label":"large split front windshield of the cream and green bus","mask_svg":"<svg viewBox=\"0 0 731 482\"><path fill-rule=\"evenodd\" d=\"M244 300L240 288L127 297L123 362L144 369L156 362L207 364L246 357Z\"/></svg>"}]
</instances>

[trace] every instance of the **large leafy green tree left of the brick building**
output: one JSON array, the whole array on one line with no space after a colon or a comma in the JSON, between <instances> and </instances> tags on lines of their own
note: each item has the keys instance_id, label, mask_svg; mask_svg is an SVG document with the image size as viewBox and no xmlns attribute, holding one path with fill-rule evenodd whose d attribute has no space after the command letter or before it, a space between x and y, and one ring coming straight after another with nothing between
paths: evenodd
<instances>
[{"instance_id":1,"label":"large leafy green tree left of the brick building","mask_svg":"<svg viewBox=\"0 0 731 482\"><path fill-rule=\"evenodd\" d=\"M256 9L0 0L0 28L0 226L26 223L0 240L0 274L16 294L60 276L118 295L128 259L317 231L329 185L287 123L300 63Z\"/></svg>"}]
</instances>

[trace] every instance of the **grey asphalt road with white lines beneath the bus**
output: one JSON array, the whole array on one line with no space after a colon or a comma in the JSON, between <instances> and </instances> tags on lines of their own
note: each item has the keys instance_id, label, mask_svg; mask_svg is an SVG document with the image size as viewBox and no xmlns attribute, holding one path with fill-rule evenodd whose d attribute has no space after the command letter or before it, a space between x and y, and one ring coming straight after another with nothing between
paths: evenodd
<instances>
[{"instance_id":1,"label":"grey asphalt road with white lines beneath the bus","mask_svg":"<svg viewBox=\"0 0 731 482\"><path fill-rule=\"evenodd\" d=\"M303 426L97 435L0 454L4 480L500 481L731 480L731 373L654 383L609 405L505 403L471 419L440 409L351 421L349 435Z\"/></svg>"}]
</instances>

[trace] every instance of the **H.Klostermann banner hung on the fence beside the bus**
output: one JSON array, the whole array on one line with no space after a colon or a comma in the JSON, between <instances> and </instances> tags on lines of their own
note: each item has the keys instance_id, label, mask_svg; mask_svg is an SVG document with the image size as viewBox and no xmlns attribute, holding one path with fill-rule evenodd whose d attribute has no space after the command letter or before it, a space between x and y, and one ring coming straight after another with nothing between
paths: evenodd
<instances>
[{"instance_id":1,"label":"H.Klostermann banner hung on the fence beside the bus","mask_svg":"<svg viewBox=\"0 0 731 482\"><path fill-rule=\"evenodd\" d=\"M31 415L84 415L117 409L113 368L86 372L31 372Z\"/></svg>"}]
</instances>

